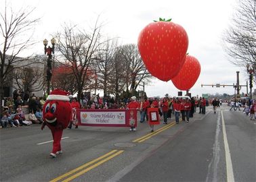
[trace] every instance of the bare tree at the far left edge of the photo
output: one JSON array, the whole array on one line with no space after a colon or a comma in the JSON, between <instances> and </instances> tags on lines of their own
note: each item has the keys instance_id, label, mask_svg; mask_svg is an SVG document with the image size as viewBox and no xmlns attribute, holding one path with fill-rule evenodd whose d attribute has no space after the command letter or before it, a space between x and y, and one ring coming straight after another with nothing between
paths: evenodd
<instances>
[{"instance_id":1,"label":"bare tree at the far left edge of the photo","mask_svg":"<svg viewBox=\"0 0 256 182\"><path fill-rule=\"evenodd\" d=\"M18 55L34 42L33 30L39 19L30 20L34 9L20 9L12 11L11 7L5 7L0 11L0 100L3 99L3 86L8 80L8 75L17 67L24 66L24 59Z\"/></svg>"}]
</instances>

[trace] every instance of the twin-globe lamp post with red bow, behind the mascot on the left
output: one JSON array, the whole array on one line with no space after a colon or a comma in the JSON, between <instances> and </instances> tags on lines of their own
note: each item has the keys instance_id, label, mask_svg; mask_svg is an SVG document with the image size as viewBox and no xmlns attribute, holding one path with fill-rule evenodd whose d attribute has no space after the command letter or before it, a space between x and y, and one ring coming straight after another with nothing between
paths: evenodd
<instances>
[{"instance_id":1,"label":"twin-globe lamp post with red bow, behind the mascot on the left","mask_svg":"<svg viewBox=\"0 0 256 182\"><path fill-rule=\"evenodd\" d=\"M47 47L48 40L45 39L43 40L43 44L45 45L45 54L47 55L47 72L46 72L46 80L47 80L47 95L49 95L49 90L50 90L50 83L51 83L51 58L52 54L54 54L54 45L56 44L55 38L51 38L51 45L52 47Z\"/></svg>"}]
</instances>

